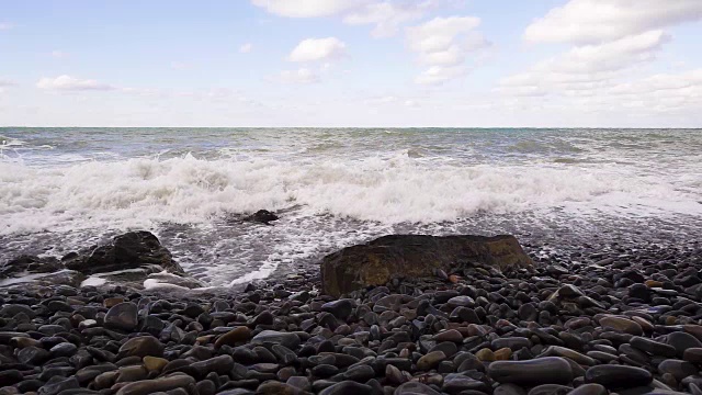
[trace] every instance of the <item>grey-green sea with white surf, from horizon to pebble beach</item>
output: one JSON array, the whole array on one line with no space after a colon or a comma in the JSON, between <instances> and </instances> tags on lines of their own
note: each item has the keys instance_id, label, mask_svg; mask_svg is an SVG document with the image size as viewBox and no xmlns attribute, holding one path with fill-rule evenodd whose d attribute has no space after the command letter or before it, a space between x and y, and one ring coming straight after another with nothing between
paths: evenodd
<instances>
[{"instance_id":1,"label":"grey-green sea with white surf, from horizon to pebble beach","mask_svg":"<svg viewBox=\"0 0 702 395\"><path fill-rule=\"evenodd\" d=\"M702 129L0 128L0 261L129 229L216 286L389 233L698 239Z\"/></svg>"}]
</instances>

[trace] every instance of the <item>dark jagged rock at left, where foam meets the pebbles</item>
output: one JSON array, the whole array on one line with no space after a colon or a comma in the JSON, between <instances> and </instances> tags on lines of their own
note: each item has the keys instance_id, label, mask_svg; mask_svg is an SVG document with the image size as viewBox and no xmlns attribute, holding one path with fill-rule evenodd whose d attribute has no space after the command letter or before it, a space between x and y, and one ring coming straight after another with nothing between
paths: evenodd
<instances>
[{"instance_id":1,"label":"dark jagged rock at left, where foam meets the pebbles","mask_svg":"<svg viewBox=\"0 0 702 395\"><path fill-rule=\"evenodd\" d=\"M173 261L171 252L149 232L129 232L115 237L111 244L100 246L87 257L67 260L66 267L84 274L104 273L141 266L158 264L173 273L183 269Z\"/></svg>"}]
</instances>

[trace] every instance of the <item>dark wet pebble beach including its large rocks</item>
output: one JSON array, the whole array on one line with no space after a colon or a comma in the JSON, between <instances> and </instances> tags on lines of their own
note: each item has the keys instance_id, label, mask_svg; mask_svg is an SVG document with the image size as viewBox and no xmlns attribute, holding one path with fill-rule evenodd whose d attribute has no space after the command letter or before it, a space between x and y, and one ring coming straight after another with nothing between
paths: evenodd
<instances>
[{"instance_id":1,"label":"dark wet pebble beach including its large rocks","mask_svg":"<svg viewBox=\"0 0 702 395\"><path fill-rule=\"evenodd\" d=\"M148 232L20 257L0 394L702 394L697 240L541 247L394 235L239 289Z\"/></svg>"}]
</instances>

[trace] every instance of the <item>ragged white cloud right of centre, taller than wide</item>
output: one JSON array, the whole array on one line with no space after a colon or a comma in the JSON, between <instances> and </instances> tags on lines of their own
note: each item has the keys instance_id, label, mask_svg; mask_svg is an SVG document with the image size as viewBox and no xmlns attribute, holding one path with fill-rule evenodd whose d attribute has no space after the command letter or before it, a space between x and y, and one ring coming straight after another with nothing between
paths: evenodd
<instances>
[{"instance_id":1,"label":"ragged white cloud right of centre, taller than wide","mask_svg":"<svg viewBox=\"0 0 702 395\"><path fill-rule=\"evenodd\" d=\"M422 84L443 83L465 75L463 66L468 54L485 49L490 43L475 31L480 19L475 16L434 18L407 29L409 48L417 53L418 60L429 66L415 82Z\"/></svg>"}]
</instances>

